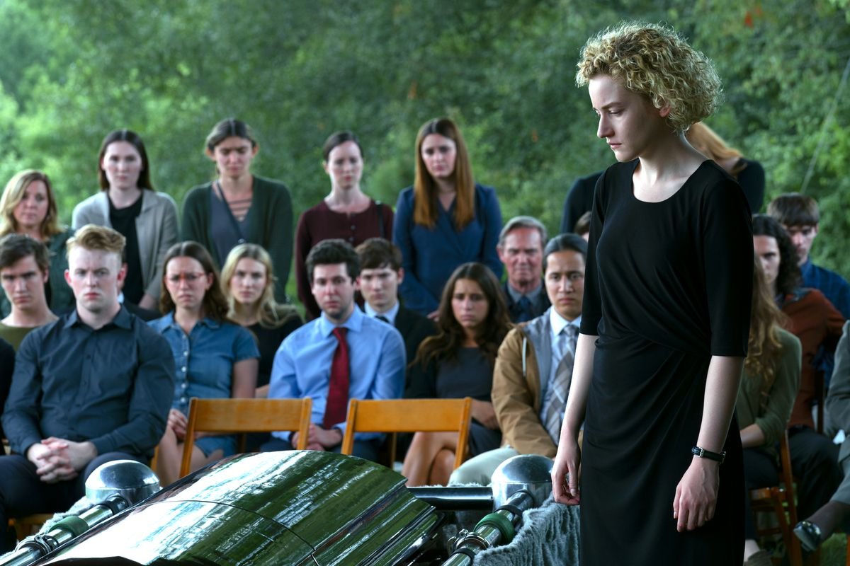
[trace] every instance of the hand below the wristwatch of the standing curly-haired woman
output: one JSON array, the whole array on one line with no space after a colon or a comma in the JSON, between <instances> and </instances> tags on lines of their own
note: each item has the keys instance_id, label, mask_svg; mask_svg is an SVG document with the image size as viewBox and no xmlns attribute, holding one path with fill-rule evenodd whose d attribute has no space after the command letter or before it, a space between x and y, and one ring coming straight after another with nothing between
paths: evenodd
<instances>
[{"instance_id":1,"label":"hand below the wristwatch of the standing curly-haired woman","mask_svg":"<svg viewBox=\"0 0 850 566\"><path fill-rule=\"evenodd\" d=\"M694 456L673 499L673 518L680 533L701 527L714 517L719 486L720 462Z\"/></svg>"}]
</instances>

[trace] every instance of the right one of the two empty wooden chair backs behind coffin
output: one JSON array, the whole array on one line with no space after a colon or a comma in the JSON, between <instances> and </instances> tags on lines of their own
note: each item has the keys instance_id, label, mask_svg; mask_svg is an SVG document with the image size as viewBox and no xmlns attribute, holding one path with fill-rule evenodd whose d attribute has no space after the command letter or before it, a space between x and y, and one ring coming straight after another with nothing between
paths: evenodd
<instances>
[{"instance_id":1,"label":"right one of the two empty wooden chair backs behind coffin","mask_svg":"<svg viewBox=\"0 0 850 566\"><path fill-rule=\"evenodd\" d=\"M354 450L355 432L457 432L455 468L466 457L473 400L463 399L352 399L343 436L343 454Z\"/></svg>"}]
</instances>

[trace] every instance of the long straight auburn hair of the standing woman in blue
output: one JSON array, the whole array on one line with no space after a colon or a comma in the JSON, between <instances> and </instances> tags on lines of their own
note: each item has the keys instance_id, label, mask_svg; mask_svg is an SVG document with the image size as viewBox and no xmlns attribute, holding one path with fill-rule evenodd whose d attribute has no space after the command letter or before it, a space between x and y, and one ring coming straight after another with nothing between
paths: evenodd
<instances>
[{"instance_id":1,"label":"long straight auburn hair of the standing woman in blue","mask_svg":"<svg viewBox=\"0 0 850 566\"><path fill-rule=\"evenodd\" d=\"M455 122L448 118L437 118L426 122L416 134L416 179L413 182L413 221L416 224L433 228L437 223L436 183L422 159L422 142L436 133L448 137L455 143L455 226L462 230L475 217L475 180L473 166L469 162L467 144Z\"/></svg>"}]
</instances>

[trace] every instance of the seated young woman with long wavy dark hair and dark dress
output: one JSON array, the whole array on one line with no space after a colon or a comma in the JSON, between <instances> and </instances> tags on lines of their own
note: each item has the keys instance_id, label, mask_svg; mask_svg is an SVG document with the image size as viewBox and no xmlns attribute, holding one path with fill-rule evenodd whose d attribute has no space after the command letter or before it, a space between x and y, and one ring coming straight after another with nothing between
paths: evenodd
<instances>
[{"instance_id":1,"label":"seated young woman with long wavy dark hair and dark dress","mask_svg":"<svg viewBox=\"0 0 850 566\"><path fill-rule=\"evenodd\" d=\"M494 450L501 432L490 402L493 366L511 328L498 279L480 263L459 266L445 285L438 313L438 333L419 346L405 396L472 397L469 454ZM464 449L457 446L457 433L414 434L402 469L407 485L445 485L455 452Z\"/></svg>"}]
</instances>

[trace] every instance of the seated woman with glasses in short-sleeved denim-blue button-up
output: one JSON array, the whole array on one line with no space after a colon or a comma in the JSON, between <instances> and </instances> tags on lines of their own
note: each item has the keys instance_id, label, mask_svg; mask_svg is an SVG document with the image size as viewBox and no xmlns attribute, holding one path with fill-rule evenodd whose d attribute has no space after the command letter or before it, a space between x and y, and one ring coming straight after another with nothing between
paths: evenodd
<instances>
[{"instance_id":1,"label":"seated woman with glasses in short-sleeved denim-blue button-up","mask_svg":"<svg viewBox=\"0 0 850 566\"><path fill-rule=\"evenodd\" d=\"M228 322L227 300L218 283L212 257L197 242L168 249L160 296L167 315L150 322L171 345L177 375L168 427L159 444L156 474L162 485L179 477L192 397L253 397L259 350L251 333ZM234 454L233 436L195 437L190 470Z\"/></svg>"}]
</instances>

